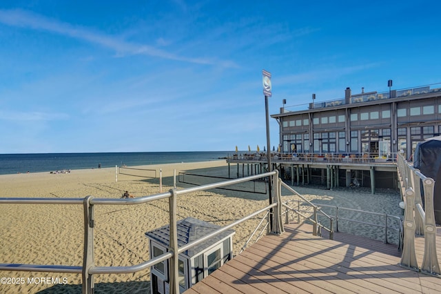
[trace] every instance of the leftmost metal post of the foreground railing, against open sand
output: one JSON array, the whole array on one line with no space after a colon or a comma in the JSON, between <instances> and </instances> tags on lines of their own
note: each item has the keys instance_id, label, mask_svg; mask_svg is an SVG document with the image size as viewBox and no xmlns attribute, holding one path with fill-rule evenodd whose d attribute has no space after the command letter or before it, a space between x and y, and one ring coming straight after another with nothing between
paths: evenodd
<instances>
[{"instance_id":1,"label":"leftmost metal post of the foreground railing, against open sand","mask_svg":"<svg viewBox=\"0 0 441 294\"><path fill-rule=\"evenodd\" d=\"M94 266L94 206L90 204L92 196L87 196L83 201L84 210L84 250L83 250L83 294L94 293L94 276L89 270Z\"/></svg>"}]
</instances>

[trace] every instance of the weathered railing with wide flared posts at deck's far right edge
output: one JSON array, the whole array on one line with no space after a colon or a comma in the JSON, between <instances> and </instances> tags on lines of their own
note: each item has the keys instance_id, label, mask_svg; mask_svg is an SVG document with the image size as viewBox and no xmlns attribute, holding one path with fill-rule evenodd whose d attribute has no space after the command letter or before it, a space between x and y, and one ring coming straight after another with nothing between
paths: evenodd
<instances>
[{"instance_id":1,"label":"weathered railing with wide flared posts at deck's far right edge","mask_svg":"<svg viewBox=\"0 0 441 294\"><path fill-rule=\"evenodd\" d=\"M435 181L413 168L402 155L398 155L398 179L404 200L404 239L400 264L430 275L441 276L436 253L436 226L433 210L433 190ZM422 206L421 186L424 191ZM424 235L424 255L418 267L415 250L415 234Z\"/></svg>"}]
</instances>

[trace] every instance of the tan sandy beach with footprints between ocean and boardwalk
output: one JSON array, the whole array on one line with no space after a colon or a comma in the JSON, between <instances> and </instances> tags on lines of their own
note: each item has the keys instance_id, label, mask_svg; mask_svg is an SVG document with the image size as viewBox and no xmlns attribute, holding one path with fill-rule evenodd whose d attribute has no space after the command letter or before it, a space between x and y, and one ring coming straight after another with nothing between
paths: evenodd
<instances>
[{"instance_id":1,"label":"tan sandy beach with footprints between ocean and boardwalk","mask_svg":"<svg viewBox=\"0 0 441 294\"><path fill-rule=\"evenodd\" d=\"M175 169L176 173L187 170L221 176L226 176L228 171L225 160L143 168L156 170L157 176L162 170L163 191L172 188ZM177 186L189 187L179 182ZM294 188L314 203L400 215L400 195L396 191L385 190L372 195L368 189ZM160 192L159 179L119 175L116 182L115 168L71 170L60 174L0 175L0 197L82 198L92 195L116 199L124 190L135 197L153 195ZM287 199L294 197L283 196L284 201ZM178 198L178 219L191 216L223 226L265 207L267 203L267 196L263 194L218 189L191 193ZM130 266L147 261L149 249L144 233L168 224L168 219L167 200L132 206L96 206L95 265ZM256 217L234 228L234 255L240 252L259 221L260 217ZM80 205L1 204L0 248L0 263L81 266L83 208ZM149 275L149 271L95 275L95 291L149 293ZM0 293L81 293L81 275L77 274L2 271L0 277L16 282L0 284ZM52 280L58 278L60 284L47 283L45 279L48 277Z\"/></svg>"}]
</instances>

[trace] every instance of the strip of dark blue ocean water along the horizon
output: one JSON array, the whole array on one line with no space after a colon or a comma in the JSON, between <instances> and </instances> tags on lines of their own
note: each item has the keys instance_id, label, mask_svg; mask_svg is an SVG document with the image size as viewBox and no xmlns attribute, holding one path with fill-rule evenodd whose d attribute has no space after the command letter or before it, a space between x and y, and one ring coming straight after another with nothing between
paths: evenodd
<instances>
[{"instance_id":1,"label":"strip of dark blue ocean water along the horizon","mask_svg":"<svg viewBox=\"0 0 441 294\"><path fill-rule=\"evenodd\" d=\"M0 154L0 175L219 160L234 151Z\"/></svg>"}]
</instances>

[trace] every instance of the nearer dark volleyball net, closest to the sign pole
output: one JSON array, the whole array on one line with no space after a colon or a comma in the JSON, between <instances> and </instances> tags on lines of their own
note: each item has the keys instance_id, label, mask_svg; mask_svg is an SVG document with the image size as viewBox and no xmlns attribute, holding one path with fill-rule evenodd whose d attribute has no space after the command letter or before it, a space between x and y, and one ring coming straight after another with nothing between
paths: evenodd
<instances>
[{"instance_id":1,"label":"nearer dark volleyball net, closest to the sign pole","mask_svg":"<svg viewBox=\"0 0 441 294\"><path fill-rule=\"evenodd\" d=\"M180 172L178 174L178 181L184 184L201 186L212 184L221 180L229 180L229 177L215 177L212 175L196 175L194 173ZM249 182L229 185L228 188L218 188L223 190L232 190L237 192L249 192L258 194L267 194L267 178L255 179Z\"/></svg>"}]
</instances>

